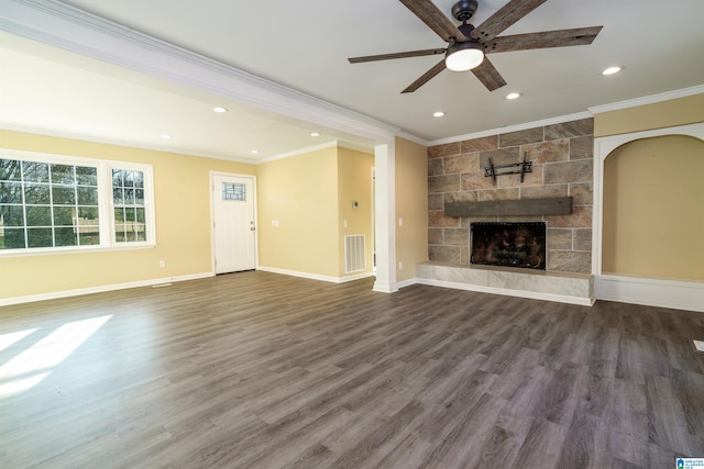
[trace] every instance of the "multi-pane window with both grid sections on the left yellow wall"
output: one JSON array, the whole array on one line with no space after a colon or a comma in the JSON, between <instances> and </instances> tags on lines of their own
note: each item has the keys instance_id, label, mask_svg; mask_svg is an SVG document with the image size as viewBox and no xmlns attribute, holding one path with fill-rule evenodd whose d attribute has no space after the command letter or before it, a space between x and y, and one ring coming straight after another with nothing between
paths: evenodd
<instances>
[{"instance_id":1,"label":"multi-pane window with both grid sections on the left yellow wall","mask_svg":"<svg viewBox=\"0 0 704 469\"><path fill-rule=\"evenodd\" d=\"M151 167L0 152L0 254L153 245Z\"/></svg>"}]
</instances>

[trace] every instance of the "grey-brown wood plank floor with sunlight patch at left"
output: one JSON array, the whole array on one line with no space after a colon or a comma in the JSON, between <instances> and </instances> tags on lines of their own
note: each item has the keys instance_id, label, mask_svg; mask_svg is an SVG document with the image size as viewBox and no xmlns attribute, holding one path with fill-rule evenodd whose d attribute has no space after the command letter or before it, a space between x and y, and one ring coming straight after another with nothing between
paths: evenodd
<instances>
[{"instance_id":1,"label":"grey-brown wood plank floor with sunlight patch at left","mask_svg":"<svg viewBox=\"0 0 704 469\"><path fill-rule=\"evenodd\" d=\"M0 309L2 468L673 468L704 314L267 272Z\"/></svg>"}]
</instances>

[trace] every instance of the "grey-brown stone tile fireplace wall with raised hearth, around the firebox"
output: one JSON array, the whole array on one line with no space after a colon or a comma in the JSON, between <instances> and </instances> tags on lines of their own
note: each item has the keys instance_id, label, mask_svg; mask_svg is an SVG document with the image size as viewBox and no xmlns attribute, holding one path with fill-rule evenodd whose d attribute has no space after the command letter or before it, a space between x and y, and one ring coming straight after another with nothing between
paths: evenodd
<instances>
[{"instance_id":1,"label":"grey-brown stone tile fireplace wall with raised hearth, around the firebox","mask_svg":"<svg viewBox=\"0 0 704 469\"><path fill-rule=\"evenodd\" d=\"M593 119L432 146L428 149L428 259L420 283L576 304L594 302L592 271ZM494 165L532 161L532 172L485 177ZM568 215L446 216L444 204L572 198ZM541 272L470 266L470 223L541 222L548 226Z\"/></svg>"}]
</instances>

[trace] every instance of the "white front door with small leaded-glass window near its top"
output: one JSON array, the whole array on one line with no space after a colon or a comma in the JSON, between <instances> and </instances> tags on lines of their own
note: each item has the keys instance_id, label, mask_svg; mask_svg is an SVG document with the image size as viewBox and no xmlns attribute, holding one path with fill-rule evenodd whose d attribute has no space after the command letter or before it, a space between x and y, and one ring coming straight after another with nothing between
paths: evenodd
<instances>
[{"instance_id":1,"label":"white front door with small leaded-glass window near its top","mask_svg":"<svg viewBox=\"0 0 704 469\"><path fill-rule=\"evenodd\" d=\"M254 177L212 175L216 273L256 268Z\"/></svg>"}]
</instances>

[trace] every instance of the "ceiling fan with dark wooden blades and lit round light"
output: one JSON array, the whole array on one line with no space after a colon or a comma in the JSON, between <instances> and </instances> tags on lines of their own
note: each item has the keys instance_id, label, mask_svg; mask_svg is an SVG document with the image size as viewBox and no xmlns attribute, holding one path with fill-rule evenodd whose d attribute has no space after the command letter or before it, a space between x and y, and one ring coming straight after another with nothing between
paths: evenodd
<instances>
[{"instance_id":1,"label":"ceiling fan with dark wooden blades and lit round light","mask_svg":"<svg viewBox=\"0 0 704 469\"><path fill-rule=\"evenodd\" d=\"M444 54L444 58L420 78L410 83L402 93L414 92L440 71L449 68L455 71L472 70L474 76L494 91L506 85L506 80L485 54L534 48L564 47L592 44L603 26L578 27L572 30L542 31L538 33L499 36L508 26L540 7L547 0L510 0L486 21L474 27L468 21L474 15L477 0L460 0L452 7L452 16L461 21L455 26L430 0L399 0L416 16L438 34L448 46L395 54L367 55L348 58L351 64L388 60L393 58L419 57Z\"/></svg>"}]
</instances>

